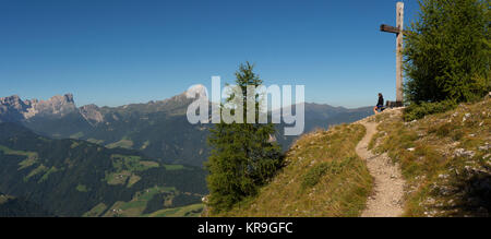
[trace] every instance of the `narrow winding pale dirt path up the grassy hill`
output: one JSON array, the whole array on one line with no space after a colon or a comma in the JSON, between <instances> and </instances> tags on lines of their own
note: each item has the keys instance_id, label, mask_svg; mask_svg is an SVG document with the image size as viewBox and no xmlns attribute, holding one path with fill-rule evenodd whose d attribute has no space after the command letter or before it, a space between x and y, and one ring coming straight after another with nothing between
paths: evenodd
<instances>
[{"instance_id":1,"label":"narrow winding pale dirt path up the grassy hill","mask_svg":"<svg viewBox=\"0 0 491 239\"><path fill-rule=\"evenodd\" d=\"M367 128L367 134L356 147L357 154L364 160L374 178L373 194L367 201L362 217L396 217L403 213L404 179L398 165L394 165L386 154L373 155L368 150L370 140L376 132L376 123L360 122Z\"/></svg>"}]
</instances>

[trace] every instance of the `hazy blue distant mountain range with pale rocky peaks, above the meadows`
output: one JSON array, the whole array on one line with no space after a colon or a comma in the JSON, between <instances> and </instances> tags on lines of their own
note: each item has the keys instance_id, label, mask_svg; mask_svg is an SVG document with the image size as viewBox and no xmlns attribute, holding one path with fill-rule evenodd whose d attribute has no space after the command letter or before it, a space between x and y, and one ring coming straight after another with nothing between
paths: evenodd
<instances>
[{"instance_id":1,"label":"hazy blue distant mountain range with pale rocky peaks, above the meadows","mask_svg":"<svg viewBox=\"0 0 491 239\"><path fill-rule=\"evenodd\" d=\"M185 111L193 100L184 92L146 104L77 108L72 94L48 100L22 100L14 95L0 98L0 122L17 122L52 139L77 139L109 148L137 150L163 163L202 167L209 152L206 136L212 124L188 122ZM306 104L304 132L354 122L371 113L370 107L347 109ZM286 150L296 138L284 136L284 127L277 127L276 139Z\"/></svg>"}]
</instances>

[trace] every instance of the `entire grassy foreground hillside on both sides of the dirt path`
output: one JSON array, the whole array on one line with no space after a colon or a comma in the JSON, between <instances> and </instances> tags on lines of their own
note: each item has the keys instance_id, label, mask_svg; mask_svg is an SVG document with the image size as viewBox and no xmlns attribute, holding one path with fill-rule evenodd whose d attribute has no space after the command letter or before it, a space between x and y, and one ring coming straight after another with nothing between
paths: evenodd
<instances>
[{"instance_id":1,"label":"entire grassy foreground hillside on both sides of the dirt path","mask_svg":"<svg viewBox=\"0 0 491 239\"><path fill-rule=\"evenodd\" d=\"M355 146L366 133L357 122L301 136L286 155L288 164L256 196L228 213L204 215L360 216L367 202L404 199L393 202L399 205L392 216L402 212L402 216L489 217L490 109L491 95L482 101L462 104L455 110L411 122L403 120L403 109L363 119L379 124L368 144L371 157L364 160L384 158L378 167L387 169L385 174L400 166L402 176L393 172L386 175L386 180L394 183L404 179L402 196L379 192L380 184L373 188L367 162L355 154ZM380 193L385 194L379 196ZM366 215L384 215L381 211L385 210L375 206Z\"/></svg>"}]
</instances>

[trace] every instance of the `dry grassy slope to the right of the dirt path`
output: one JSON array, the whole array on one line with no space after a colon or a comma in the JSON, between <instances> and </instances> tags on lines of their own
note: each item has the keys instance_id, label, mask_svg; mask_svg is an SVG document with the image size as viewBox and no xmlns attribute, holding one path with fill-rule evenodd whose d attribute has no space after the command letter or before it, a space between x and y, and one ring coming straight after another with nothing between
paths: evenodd
<instances>
[{"instance_id":1,"label":"dry grassy slope to the right of the dirt path","mask_svg":"<svg viewBox=\"0 0 491 239\"><path fill-rule=\"evenodd\" d=\"M407 180L405 216L491 215L491 98L404 122L376 117L371 147L386 152Z\"/></svg>"}]
</instances>

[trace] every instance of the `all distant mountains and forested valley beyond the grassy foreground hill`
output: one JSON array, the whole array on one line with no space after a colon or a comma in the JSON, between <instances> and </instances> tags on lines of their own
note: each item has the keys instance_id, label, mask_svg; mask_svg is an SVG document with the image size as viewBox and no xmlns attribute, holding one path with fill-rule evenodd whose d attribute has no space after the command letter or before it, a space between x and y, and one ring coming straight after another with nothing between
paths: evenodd
<instances>
[{"instance_id":1,"label":"all distant mountains and forested valley beyond the grassy foreground hill","mask_svg":"<svg viewBox=\"0 0 491 239\"><path fill-rule=\"evenodd\" d=\"M193 100L185 92L120 107L76 107L72 94L0 98L0 216L197 215L213 124L188 122ZM304 107L306 132L371 115ZM287 150L297 138L285 127L275 139Z\"/></svg>"}]
</instances>

